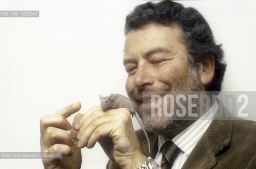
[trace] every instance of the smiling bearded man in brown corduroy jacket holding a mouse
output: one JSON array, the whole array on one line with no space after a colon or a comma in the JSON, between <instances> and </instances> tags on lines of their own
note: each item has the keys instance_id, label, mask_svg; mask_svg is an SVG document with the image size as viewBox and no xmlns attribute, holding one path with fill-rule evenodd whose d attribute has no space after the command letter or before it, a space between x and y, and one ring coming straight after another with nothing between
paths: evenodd
<instances>
[{"instance_id":1,"label":"smiling bearded man in brown corduroy jacket holding a mouse","mask_svg":"<svg viewBox=\"0 0 256 169\"><path fill-rule=\"evenodd\" d=\"M150 153L129 110L92 107L71 127L66 117L80 109L77 103L41 118L41 151L64 155L43 159L45 168L80 168L80 148L96 142L110 159L107 168L256 168L255 123L215 117L221 102L210 101L204 120L152 112L152 93L220 91L226 64L203 16L172 1L146 3L127 15L125 35L125 87L148 131Z\"/></svg>"}]
</instances>

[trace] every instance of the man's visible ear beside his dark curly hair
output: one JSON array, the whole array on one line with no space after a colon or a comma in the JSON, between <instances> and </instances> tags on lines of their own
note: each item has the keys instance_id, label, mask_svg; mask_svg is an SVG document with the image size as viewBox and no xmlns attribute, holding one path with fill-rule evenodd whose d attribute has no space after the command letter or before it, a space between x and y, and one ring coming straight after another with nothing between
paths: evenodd
<instances>
[{"instance_id":1,"label":"man's visible ear beside his dark curly hair","mask_svg":"<svg viewBox=\"0 0 256 169\"><path fill-rule=\"evenodd\" d=\"M208 54L200 63L200 80L202 85L208 85L214 78L215 61L214 55Z\"/></svg>"}]
</instances>

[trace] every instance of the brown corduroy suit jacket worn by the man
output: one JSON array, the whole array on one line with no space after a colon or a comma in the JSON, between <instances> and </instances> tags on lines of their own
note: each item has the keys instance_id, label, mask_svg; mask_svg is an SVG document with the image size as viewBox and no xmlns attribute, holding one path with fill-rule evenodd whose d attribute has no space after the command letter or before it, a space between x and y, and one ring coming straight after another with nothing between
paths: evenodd
<instances>
[{"instance_id":1,"label":"brown corduroy suit jacket worn by the man","mask_svg":"<svg viewBox=\"0 0 256 169\"><path fill-rule=\"evenodd\" d=\"M219 101L218 101L219 102ZM219 102L219 110L229 114L228 110ZM182 169L256 169L256 121L241 120L232 117L222 120L223 116L215 117L206 133L187 157ZM148 133L151 153L142 130L136 131L143 153L152 158L158 151L158 136ZM120 168L115 162L109 161L107 169Z\"/></svg>"}]
</instances>

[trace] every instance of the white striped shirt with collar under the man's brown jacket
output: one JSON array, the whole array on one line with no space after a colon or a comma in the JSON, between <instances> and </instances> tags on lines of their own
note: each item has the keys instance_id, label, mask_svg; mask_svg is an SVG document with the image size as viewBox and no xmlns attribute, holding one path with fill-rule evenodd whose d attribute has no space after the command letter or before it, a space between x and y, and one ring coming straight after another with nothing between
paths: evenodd
<instances>
[{"instance_id":1,"label":"white striped shirt with collar under the man's brown jacket","mask_svg":"<svg viewBox=\"0 0 256 169\"><path fill-rule=\"evenodd\" d=\"M182 150L175 159L172 169L180 169L182 167L195 145L197 145L198 141L211 124L217 110L218 102L215 101L214 105L206 112L206 114L172 139L173 143ZM165 140L163 136L158 136L158 153L155 160L159 165L161 165L163 154L160 152L160 148L166 141L167 140Z\"/></svg>"}]
</instances>

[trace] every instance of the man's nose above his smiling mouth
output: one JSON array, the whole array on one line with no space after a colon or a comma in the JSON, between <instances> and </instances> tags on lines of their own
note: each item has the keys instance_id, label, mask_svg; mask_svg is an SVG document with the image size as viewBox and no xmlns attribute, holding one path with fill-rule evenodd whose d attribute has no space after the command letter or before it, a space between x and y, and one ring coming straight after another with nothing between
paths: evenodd
<instances>
[{"instance_id":1,"label":"man's nose above his smiling mouth","mask_svg":"<svg viewBox=\"0 0 256 169\"><path fill-rule=\"evenodd\" d=\"M141 68L137 68L133 83L134 83L134 86L136 86L139 89L142 89L142 88L153 85L154 79L150 75L150 72L147 69L141 67Z\"/></svg>"}]
</instances>

